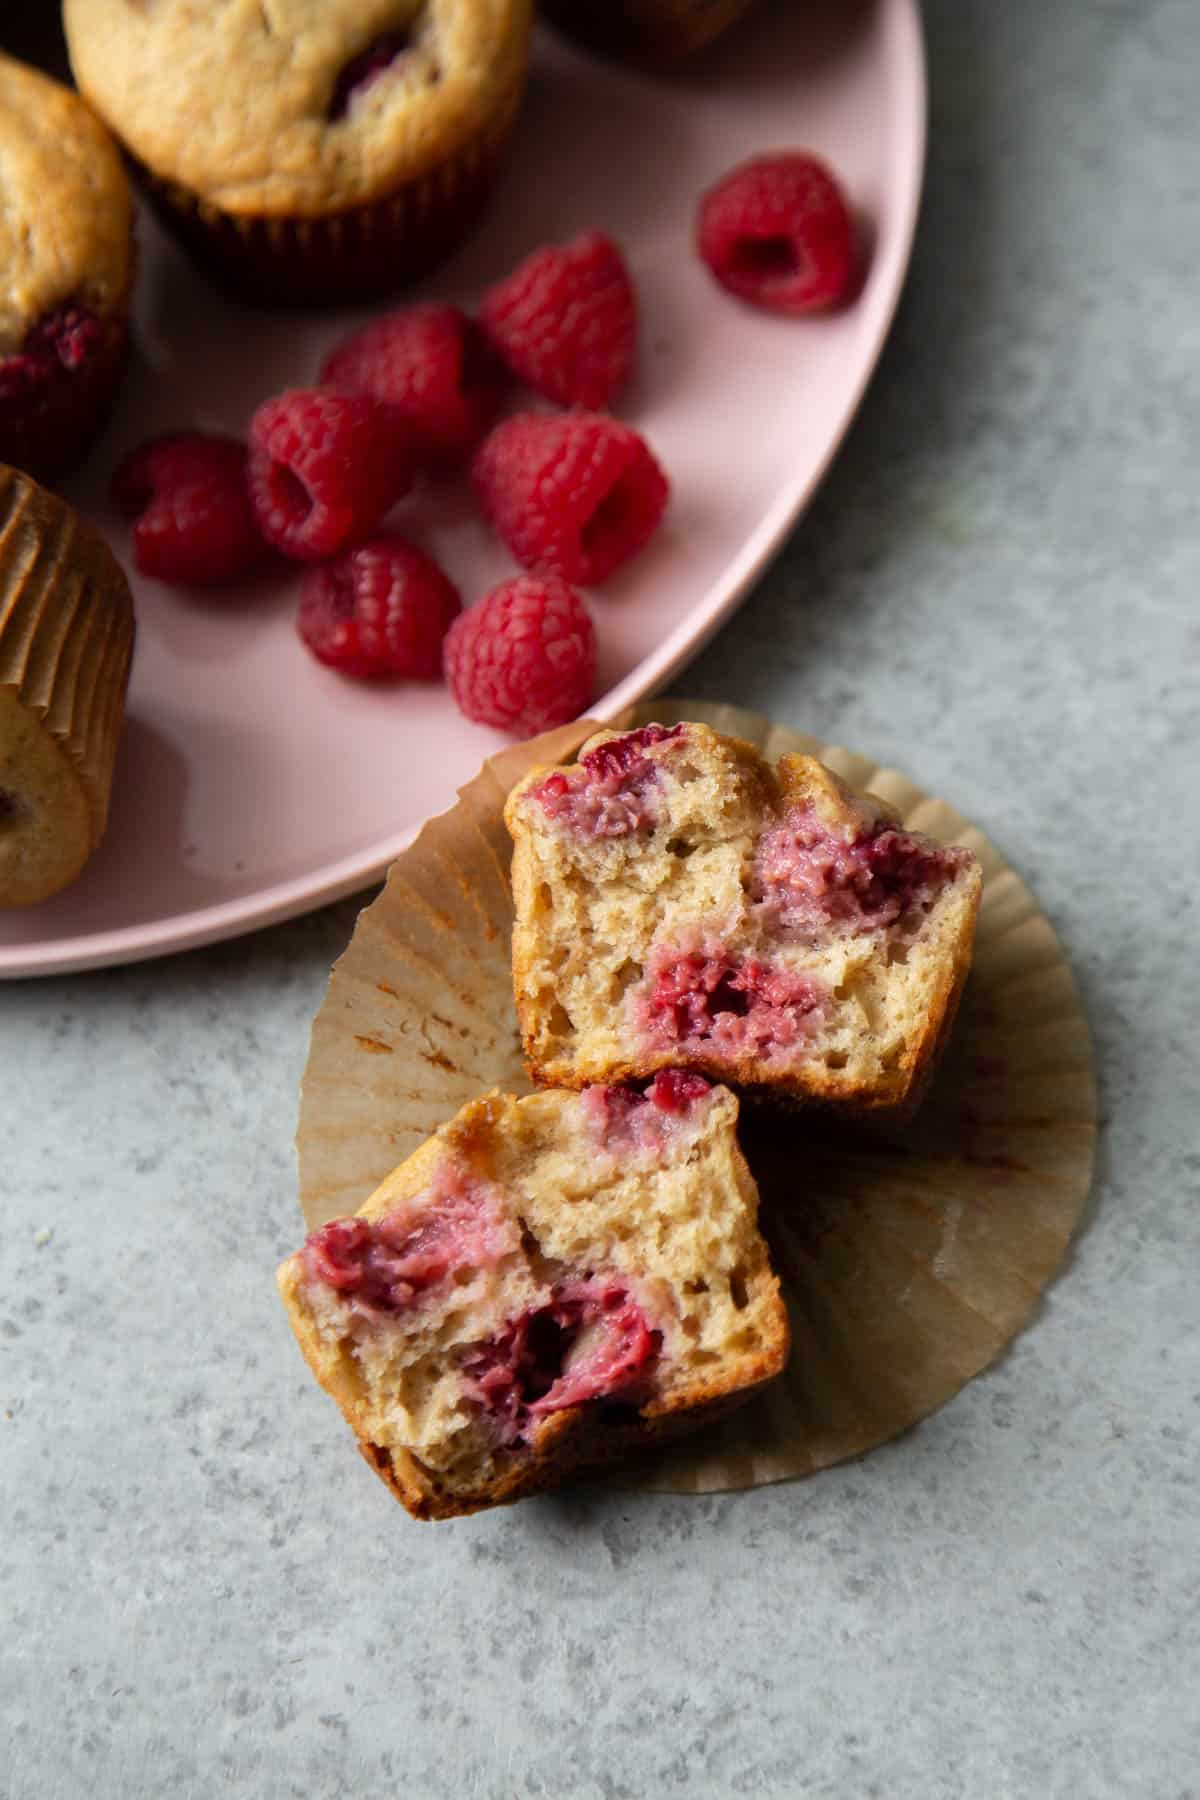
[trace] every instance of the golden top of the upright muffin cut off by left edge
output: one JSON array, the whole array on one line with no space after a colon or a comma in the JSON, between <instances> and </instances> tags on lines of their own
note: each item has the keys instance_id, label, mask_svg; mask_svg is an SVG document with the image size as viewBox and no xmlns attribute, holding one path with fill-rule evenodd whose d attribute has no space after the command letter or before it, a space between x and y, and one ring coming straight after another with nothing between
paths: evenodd
<instances>
[{"instance_id":1,"label":"golden top of the upright muffin cut off by left edge","mask_svg":"<svg viewBox=\"0 0 1200 1800\"><path fill-rule=\"evenodd\" d=\"M58 81L0 56L0 356L65 301L101 319L124 302L131 223L104 126Z\"/></svg>"}]
</instances>

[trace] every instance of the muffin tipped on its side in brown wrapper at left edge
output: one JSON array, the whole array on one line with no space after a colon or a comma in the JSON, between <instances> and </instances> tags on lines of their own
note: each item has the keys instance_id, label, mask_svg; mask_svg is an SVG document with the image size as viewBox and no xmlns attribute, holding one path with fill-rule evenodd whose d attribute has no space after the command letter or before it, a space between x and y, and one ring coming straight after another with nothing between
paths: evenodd
<instances>
[{"instance_id":1,"label":"muffin tipped on its side in brown wrapper at left edge","mask_svg":"<svg viewBox=\"0 0 1200 1800\"><path fill-rule=\"evenodd\" d=\"M0 468L0 905L58 893L104 835L131 655L104 540Z\"/></svg>"}]
</instances>

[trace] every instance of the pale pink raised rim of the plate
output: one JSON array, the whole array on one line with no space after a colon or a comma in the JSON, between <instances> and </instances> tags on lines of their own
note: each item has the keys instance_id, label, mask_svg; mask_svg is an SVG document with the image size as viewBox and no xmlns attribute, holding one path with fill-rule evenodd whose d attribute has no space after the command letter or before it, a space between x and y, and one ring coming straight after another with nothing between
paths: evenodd
<instances>
[{"instance_id":1,"label":"pale pink raised rim of the plate","mask_svg":"<svg viewBox=\"0 0 1200 1800\"><path fill-rule=\"evenodd\" d=\"M594 718L615 718L617 713L622 713L637 700L646 700L658 693L685 662L703 650L721 625L738 610L826 479L858 414L864 394L874 378L912 263L928 148L928 72L919 4L918 0L883 0L883 5L891 13L885 29L894 34L894 56L900 68L898 92L903 97L903 104L910 110L910 133L907 135L914 153L900 171L892 268L858 378L847 389L837 428L831 432L817 466L804 477L784 484L775 502L743 544L741 553L730 569L727 569L716 590L711 590L698 608L687 619L682 619L657 650L642 657L635 670L588 707ZM696 614L700 614L700 619L696 619ZM290 918L300 918L381 880L389 864L394 862L401 850L408 848L423 824L425 819L419 819L392 837L380 839L369 850L340 857L336 862L327 862L306 875L295 875L286 882L273 882L255 889L254 895L243 895L237 900L221 900L216 905L196 907L189 913L173 913L149 925L124 925L117 931L54 938L43 943L0 945L0 981L79 974L92 968L151 961L158 956L196 950L227 938L264 931Z\"/></svg>"}]
</instances>

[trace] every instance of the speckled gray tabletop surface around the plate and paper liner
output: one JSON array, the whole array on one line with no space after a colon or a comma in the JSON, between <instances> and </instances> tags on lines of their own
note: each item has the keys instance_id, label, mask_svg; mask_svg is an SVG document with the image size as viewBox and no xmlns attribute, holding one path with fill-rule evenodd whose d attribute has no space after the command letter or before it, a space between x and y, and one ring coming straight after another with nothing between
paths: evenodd
<instances>
[{"instance_id":1,"label":"speckled gray tabletop surface around the plate and paper liner","mask_svg":"<svg viewBox=\"0 0 1200 1800\"><path fill-rule=\"evenodd\" d=\"M896 335L680 691L907 767L1034 880L1103 1071L1070 1269L858 1465L417 1526L270 1298L354 905L2 988L5 1800L1200 1793L1200 7L927 20Z\"/></svg>"}]
</instances>

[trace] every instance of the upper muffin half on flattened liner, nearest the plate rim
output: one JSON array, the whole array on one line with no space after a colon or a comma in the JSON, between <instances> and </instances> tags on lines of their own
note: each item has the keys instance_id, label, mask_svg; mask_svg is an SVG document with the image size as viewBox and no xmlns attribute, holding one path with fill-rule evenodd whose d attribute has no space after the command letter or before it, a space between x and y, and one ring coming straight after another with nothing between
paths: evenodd
<instances>
[{"instance_id":1,"label":"upper muffin half on flattened liner, nearest the plate rim","mask_svg":"<svg viewBox=\"0 0 1200 1800\"><path fill-rule=\"evenodd\" d=\"M970 965L975 857L811 756L707 725L603 733L509 796L513 983L536 1080L680 1066L790 1102L905 1109Z\"/></svg>"}]
</instances>

